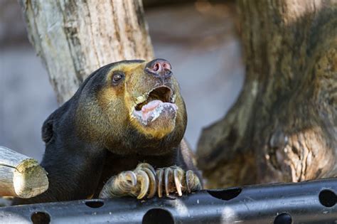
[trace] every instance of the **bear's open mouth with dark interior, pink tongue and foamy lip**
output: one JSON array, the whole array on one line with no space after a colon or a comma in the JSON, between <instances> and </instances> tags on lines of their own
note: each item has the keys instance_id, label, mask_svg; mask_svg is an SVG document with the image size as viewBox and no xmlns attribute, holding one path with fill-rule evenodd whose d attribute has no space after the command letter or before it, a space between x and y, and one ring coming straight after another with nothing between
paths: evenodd
<instances>
[{"instance_id":1,"label":"bear's open mouth with dark interior, pink tongue and foamy lip","mask_svg":"<svg viewBox=\"0 0 337 224\"><path fill-rule=\"evenodd\" d=\"M158 117L176 117L178 107L174 103L175 95L169 87L156 87L142 98L132 113L142 124L148 125Z\"/></svg>"}]
</instances>

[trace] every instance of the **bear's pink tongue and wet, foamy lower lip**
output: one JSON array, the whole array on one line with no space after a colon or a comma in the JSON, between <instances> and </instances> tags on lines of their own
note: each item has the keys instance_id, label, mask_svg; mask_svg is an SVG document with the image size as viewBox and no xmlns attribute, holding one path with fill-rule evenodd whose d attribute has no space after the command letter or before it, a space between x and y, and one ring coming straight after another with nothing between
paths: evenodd
<instances>
[{"instance_id":1,"label":"bear's pink tongue and wet, foamy lower lip","mask_svg":"<svg viewBox=\"0 0 337 224\"><path fill-rule=\"evenodd\" d=\"M148 127L154 125L154 123L163 124L175 121L177 110L178 107L174 103L152 100L144 105L141 110L134 109L132 117L143 126Z\"/></svg>"}]
</instances>

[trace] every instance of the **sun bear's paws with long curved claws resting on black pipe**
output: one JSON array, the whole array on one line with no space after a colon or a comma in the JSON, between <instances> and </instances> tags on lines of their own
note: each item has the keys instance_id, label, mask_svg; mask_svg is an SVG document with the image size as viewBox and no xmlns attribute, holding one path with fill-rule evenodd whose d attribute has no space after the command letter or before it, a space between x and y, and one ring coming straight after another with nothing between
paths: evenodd
<instances>
[{"instance_id":1,"label":"sun bear's paws with long curved claws resting on black pipe","mask_svg":"<svg viewBox=\"0 0 337 224\"><path fill-rule=\"evenodd\" d=\"M191 193L201 189L198 176L191 170L184 171L179 166L170 166L154 170L150 164L138 164L134 171L124 171L109 178L105 183L100 198L135 196L138 199L152 198L158 193L159 198L170 193Z\"/></svg>"}]
</instances>

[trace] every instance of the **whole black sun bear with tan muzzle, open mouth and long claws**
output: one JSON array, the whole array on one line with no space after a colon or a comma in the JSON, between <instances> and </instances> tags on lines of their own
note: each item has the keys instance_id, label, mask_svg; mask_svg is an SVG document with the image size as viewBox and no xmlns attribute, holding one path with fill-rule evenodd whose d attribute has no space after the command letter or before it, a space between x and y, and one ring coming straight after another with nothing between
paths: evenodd
<instances>
[{"instance_id":1,"label":"whole black sun bear with tan muzzle, open mouth and long claws","mask_svg":"<svg viewBox=\"0 0 337 224\"><path fill-rule=\"evenodd\" d=\"M167 60L105 65L43 123L48 190L14 203L197 191L200 177L183 141L186 123Z\"/></svg>"}]
</instances>

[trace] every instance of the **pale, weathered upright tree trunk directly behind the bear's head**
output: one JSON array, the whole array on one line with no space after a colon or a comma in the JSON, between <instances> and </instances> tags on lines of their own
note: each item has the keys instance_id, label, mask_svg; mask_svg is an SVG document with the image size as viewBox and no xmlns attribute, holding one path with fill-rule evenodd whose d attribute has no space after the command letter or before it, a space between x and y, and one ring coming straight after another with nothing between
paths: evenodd
<instances>
[{"instance_id":1,"label":"pale, weathered upright tree trunk directly behind the bear's head","mask_svg":"<svg viewBox=\"0 0 337 224\"><path fill-rule=\"evenodd\" d=\"M28 37L48 70L58 102L97 68L153 58L141 0L20 0Z\"/></svg>"}]
</instances>

